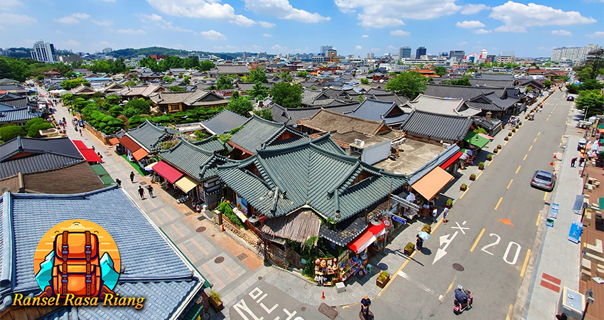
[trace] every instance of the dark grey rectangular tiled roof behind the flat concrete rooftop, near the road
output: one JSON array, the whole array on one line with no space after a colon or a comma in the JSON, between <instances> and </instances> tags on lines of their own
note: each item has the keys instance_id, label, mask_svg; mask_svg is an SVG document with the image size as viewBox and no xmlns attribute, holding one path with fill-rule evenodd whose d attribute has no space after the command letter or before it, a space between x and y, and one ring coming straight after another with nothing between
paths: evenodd
<instances>
[{"instance_id":1,"label":"dark grey rectangular tiled roof behind the flat concrete rooftop, near the road","mask_svg":"<svg viewBox=\"0 0 604 320\"><path fill-rule=\"evenodd\" d=\"M434 140L459 142L468 134L471 117L414 110L401 124L401 130Z\"/></svg>"}]
</instances>

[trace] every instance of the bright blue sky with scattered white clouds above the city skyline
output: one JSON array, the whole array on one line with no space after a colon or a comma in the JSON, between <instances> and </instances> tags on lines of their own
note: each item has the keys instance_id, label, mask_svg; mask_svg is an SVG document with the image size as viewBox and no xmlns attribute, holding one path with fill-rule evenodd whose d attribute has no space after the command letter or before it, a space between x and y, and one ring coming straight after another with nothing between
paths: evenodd
<instances>
[{"instance_id":1,"label":"bright blue sky with scattered white clouds above the city skyline","mask_svg":"<svg viewBox=\"0 0 604 320\"><path fill-rule=\"evenodd\" d=\"M515 2L518 1L518 2ZM487 49L519 57L604 44L604 0L1 0L0 48L163 46L343 55Z\"/></svg>"}]
</instances>

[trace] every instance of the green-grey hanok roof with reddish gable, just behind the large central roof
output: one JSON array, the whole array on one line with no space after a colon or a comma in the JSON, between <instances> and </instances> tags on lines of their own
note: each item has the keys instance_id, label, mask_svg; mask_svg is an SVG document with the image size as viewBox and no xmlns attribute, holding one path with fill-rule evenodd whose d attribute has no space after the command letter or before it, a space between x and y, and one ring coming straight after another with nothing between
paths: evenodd
<instances>
[{"instance_id":1,"label":"green-grey hanok roof with reddish gable, just behind the large central roof","mask_svg":"<svg viewBox=\"0 0 604 320\"><path fill-rule=\"evenodd\" d=\"M310 140L306 134L284 123L271 122L254 114L228 143L234 148L230 158L239 160L249 158L262 149L281 148Z\"/></svg>"}]
</instances>

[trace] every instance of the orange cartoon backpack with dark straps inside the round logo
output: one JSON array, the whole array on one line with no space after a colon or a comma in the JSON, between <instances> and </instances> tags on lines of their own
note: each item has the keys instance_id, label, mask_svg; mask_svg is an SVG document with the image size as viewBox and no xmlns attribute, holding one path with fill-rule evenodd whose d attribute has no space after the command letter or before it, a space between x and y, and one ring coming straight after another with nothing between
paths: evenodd
<instances>
[{"instance_id":1,"label":"orange cartoon backpack with dark straps inside the round logo","mask_svg":"<svg viewBox=\"0 0 604 320\"><path fill-rule=\"evenodd\" d=\"M54 294L97 297L103 282L97 235L63 231L55 237L54 246Z\"/></svg>"}]
</instances>

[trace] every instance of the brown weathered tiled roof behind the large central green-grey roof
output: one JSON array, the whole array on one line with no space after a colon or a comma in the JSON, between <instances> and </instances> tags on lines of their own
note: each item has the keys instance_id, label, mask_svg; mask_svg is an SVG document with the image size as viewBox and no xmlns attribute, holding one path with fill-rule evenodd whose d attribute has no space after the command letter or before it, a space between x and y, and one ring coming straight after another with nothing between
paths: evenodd
<instances>
[{"instance_id":1,"label":"brown weathered tiled roof behind the large central green-grey roof","mask_svg":"<svg viewBox=\"0 0 604 320\"><path fill-rule=\"evenodd\" d=\"M384 122L353 117L350 114L341 114L325 109L319 110L309 119L299 120L298 123L322 132L336 131L343 133L356 131L370 136L390 132L390 129Z\"/></svg>"}]
</instances>

